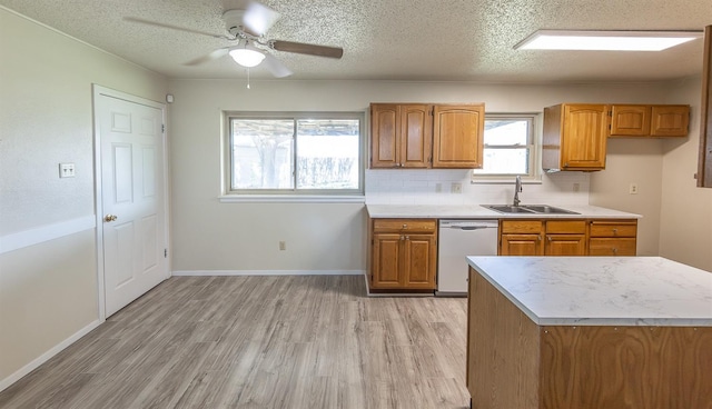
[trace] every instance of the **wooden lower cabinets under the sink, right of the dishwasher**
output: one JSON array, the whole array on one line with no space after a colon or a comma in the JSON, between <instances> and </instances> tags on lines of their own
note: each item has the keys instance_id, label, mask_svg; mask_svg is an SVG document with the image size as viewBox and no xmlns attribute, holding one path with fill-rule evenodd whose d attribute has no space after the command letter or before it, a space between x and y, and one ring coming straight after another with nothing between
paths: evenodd
<instances>
[{"instance_id":1,"label":"wooden lower cabinets under the sink, right of the dishwasher","mask_svg":"<svg viewBox=\"0 0 712 409\"><path fill-rule=\"evenodd\" d=\"M500 221L500 256L635 256L637 220Z\"/></svg>"}]
</instances>

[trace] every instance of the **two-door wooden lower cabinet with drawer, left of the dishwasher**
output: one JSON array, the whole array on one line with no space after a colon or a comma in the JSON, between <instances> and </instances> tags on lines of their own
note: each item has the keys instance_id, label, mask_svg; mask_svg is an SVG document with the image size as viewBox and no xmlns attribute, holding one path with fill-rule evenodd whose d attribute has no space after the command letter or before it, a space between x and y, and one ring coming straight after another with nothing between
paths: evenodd
<instances>
[{"instance_id":1,"label":"two-door wooden lower cabinet with drawer, left of the dishwasher","mask_svg":"<svg viewBox=\"0 0 712 409\"><path fill-rule=\"evenodd\" d=\"M437 220L370 219L372 290L435 290Z\"/></svg>"}]
</instances>

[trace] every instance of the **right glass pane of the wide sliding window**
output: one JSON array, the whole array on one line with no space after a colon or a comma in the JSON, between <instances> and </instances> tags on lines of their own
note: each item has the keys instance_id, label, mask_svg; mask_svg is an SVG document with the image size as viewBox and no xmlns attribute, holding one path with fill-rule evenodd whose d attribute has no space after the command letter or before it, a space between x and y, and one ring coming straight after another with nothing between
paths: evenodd
<instances>
[{"instance_id":1,"label":"right glass pane of the wide sliding window","mask_svg":"<svg viewBox=\"0 0 712 409\"><path fill-rule=\"evenodd\" d=\"M358 189L359 121L297 121L297 189Z\"/></svg>"}]
</instances>

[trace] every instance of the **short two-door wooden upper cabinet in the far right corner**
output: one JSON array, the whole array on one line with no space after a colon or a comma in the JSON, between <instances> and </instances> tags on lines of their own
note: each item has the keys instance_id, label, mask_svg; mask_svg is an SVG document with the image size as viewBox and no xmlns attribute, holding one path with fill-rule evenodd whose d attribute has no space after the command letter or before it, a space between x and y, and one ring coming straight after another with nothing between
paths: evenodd
<instances>
[{"instance_id":1,"label":"short two-door wooden upper cabinet in the far right corner","mask_svg":"<svg viewBox=\"0 0 712 409\"><path fill-rule=\"evenodd\" d=\"M611 137L686 137L690 106L611 106Z\"/></svg>"}]
</instances>

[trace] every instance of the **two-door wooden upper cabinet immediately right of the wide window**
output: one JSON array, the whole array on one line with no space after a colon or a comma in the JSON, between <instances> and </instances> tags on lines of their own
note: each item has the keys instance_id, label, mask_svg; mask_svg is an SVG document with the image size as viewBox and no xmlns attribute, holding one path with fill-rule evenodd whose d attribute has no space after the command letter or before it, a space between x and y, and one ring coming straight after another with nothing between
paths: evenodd
<instances>
[{"instance_id":1,"label":"two-door wooden upper cabinet immediately right of the wide window","mask_svg":"<svg viewBox=\"0 0 712 409\"><path fill-rule=\"evenodd\" d=\"M428 104L372 104L370 168L429 168L432 132Z\"/></svg>"}]
</instances>

